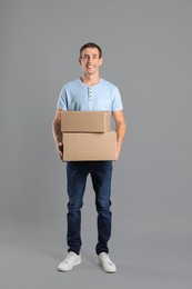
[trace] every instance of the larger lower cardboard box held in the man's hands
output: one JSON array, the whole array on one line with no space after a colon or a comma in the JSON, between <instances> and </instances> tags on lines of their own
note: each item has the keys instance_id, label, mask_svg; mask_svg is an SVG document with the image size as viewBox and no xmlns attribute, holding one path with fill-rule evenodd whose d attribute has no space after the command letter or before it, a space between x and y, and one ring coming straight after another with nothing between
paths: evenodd
<instances>
[{"instance_id":1,"label":"larger lower cardboard box held in the man's hands","mask_svg":"<svg viewBox=\"0 0 192 289\"><path fill-rule=\"evenodd\" d=\"M63 133L64 161L117 160L117 132Z\"/></svg>"}]
</instances>

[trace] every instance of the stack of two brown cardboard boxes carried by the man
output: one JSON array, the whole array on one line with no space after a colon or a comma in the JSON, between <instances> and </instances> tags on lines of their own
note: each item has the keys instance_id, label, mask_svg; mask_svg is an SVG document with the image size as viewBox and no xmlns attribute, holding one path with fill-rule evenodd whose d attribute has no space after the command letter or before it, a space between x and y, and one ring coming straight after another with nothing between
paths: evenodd
<instances>
[{"instance_id":1,"label":"stack of two brown cardboard boxes carried by the man","mask_svg":"<svg viewBox=\"0 0 192 289\"><path fill-rule=\"evenodd\" d=\"M110 111L62 111L63 161L115 160Z\"/></svg>"}]
</instances>

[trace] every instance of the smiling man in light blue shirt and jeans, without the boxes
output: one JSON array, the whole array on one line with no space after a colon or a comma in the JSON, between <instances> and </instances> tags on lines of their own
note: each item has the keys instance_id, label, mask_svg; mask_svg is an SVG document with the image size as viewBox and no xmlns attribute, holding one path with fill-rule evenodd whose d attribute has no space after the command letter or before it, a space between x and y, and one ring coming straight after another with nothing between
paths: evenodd
<instances>
[{"instance_id":1,"label":"smiling man in light blue shirt and jeans, without the boxes","mask_svg":"<svg viewBox=\"0 0 192 289\"><path fill-rule=\"evenodd\" d=\"M80 49L79 63L82 74L79 79L63 86L57 112L52 123L53 137L58 153L63 159L64 143L61 133L62 110L110 110L115 120L117 155L120 156L122 141L125 134L123 107L119 89L100 77L102 50L92 42ZM69 271L81 262L81 208L88 175L91 175L95 191L98 211L98 243L95 252L101 268L105 272L115 272L117 267L109 257L108 242L111 236L111 176L112 161L69 161L67 163L68 178L68 255L58 266L59 271Z\"/></svg>"}]
</instances>

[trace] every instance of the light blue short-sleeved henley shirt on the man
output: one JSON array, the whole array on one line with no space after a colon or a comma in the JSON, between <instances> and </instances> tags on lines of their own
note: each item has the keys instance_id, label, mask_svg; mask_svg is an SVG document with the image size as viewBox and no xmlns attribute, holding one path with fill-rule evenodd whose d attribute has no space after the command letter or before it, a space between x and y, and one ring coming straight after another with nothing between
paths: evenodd
<instances>
[{"instance_id":1,"label":"light blue short-sleeved henley shirt on the man","mask_svg":"<svg viewBox=\"0 0 192 289\"><path fill-rule=\"evenodd\" d=\"M82 111L122 110L119 89L113 83L101 79L99 83L88 87L80 79L68 82L61 89L58 109Z\"/></svg>"}]
</instances>

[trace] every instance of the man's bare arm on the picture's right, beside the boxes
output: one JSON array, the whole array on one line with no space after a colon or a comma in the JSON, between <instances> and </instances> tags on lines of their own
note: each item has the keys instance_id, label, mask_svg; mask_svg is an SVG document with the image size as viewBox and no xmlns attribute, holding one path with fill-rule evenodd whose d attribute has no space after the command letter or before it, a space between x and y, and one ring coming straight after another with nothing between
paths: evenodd
<instances>
[{"instance_id":1,"label":"man's bare arm on the picture's right, beside the boxes","mask_svg":"<svg viewBox=\"0 0 192 289\"><path fill-rule=\"evenodd\" d=\"M127 124L124 121L124 116L123 116L123 111L122 110L118 110L118 111L113 111L112 112L114 121L115 121L115 130L117 130L117 144L118 144L118 156L117 159L119 159L120 157L120 151L121 151L121 147L122 147L122 142L125 136L125 131L127 131Z\"/></svg>"}]
</instances>

